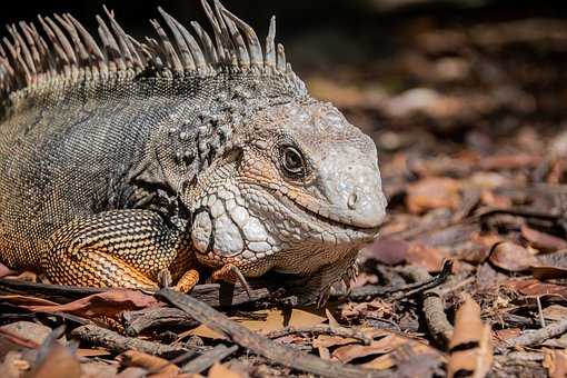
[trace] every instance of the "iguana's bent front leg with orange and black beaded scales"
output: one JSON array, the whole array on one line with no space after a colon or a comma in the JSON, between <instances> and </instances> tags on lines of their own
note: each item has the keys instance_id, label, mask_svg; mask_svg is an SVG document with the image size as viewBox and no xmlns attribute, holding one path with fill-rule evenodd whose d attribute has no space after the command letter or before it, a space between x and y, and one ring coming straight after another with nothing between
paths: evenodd
<instances>
[{"instance_id":1,"label":"iguana's bent front leg with orange and black beaded scales","mask_svg":"<svg viewBox=\"0 0 567 378\"><path fill-rule=\"evenodd\" d=\"M106 211L57 230L41 267L53 284L156 289L161 270L170 269L175 281L193 267L182 231L149 210ZM195 273L186 276L195 281ZM187 278L180 281L190 289Z\"/></svg>"}]
</instances>

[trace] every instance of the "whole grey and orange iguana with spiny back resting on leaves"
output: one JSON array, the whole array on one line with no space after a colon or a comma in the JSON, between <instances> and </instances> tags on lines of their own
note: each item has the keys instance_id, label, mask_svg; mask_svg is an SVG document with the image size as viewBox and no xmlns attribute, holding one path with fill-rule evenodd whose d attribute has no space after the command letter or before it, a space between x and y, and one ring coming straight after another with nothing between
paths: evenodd
<instances>
[{"instance_id":1,"label":"whole grey and orange iguana with spiny back resting on leaves","mask_svg":"<svg viewBox=\"0 0 567 378\"><path fill-rule=\"evenodd\" d=\"M0 262L48 281L188 291L269 270L325 295L385 217L377 149L220 2L212 33L106 10L9 26L0 48ZM40 31L41 30L41 31ZM212 37L211 37L212 36ZM169 272L169 276L168 276ZM166 277L166 278L163 278Z\"/></svg>"}]
</instances>

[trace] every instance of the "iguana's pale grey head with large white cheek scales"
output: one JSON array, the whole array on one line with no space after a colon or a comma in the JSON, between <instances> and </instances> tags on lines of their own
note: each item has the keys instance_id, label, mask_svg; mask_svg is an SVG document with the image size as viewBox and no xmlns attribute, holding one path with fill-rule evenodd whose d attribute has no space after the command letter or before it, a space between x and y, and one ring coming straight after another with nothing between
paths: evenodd
<instances>
[{"instance_id":1,"label":"iguana's pale grey head with large white cheek scales","mask_svg":"<svg viewBox=\"0 0 567 378\"><path fill-rule=\"evenodd\" d=\"M341 279L385 217L372 140L316 100L262 109L236 129L231 149L196 187L199 259L231 262L246 276L338 265Z\"/></svg>"}]
</instances>

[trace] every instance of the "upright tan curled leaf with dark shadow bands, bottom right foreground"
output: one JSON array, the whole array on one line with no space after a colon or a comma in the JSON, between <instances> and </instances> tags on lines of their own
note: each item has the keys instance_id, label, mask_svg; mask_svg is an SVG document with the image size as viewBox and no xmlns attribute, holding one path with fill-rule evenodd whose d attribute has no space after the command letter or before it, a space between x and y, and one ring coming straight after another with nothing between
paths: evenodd
<instances>
[{"instance_id":1,"label":"upright tan curled leaf with dark shadow bands, bottom right foreground","mask_svg":"<svg viewBox=\"0 0 567 378\"><path fill-rule=\"evenodd\" d=\"M465 300L455 317L455 331L449 341L450 357L447 377L485 377L493 365L490 326L480 320L480 307L470 297Z\"/></svg>"}]
</instances>

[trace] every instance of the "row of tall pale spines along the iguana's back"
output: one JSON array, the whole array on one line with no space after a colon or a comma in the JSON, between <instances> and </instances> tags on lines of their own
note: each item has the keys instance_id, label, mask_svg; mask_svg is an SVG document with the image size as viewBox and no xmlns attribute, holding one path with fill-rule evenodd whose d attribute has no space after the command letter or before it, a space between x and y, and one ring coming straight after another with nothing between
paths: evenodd
<instances>
[{"instance_id":1,"label":"row of tall pale spines along the iguana's back","mask_svg":"<svg viewBox=\"0 0 567 378\"><path fill-rule=\"evenodd\" d=\"M191 21L193 33L158 8L167 31L151 20L157 38L140 42L129 36L105 8L108 20L97 16L99 42L71 14L38 17L43 32L31 22L8 26L11 39L0 43L0 99L23 88L53 79L79 80L115 72L149 72L152 76L231 72L279 74L299 91L305 84L286 62L282 44L275 42L271 18L265 51L253 29L229 12L218 0L202 8L212 27L212 38Z\"/></svg>"}]
</instances>

